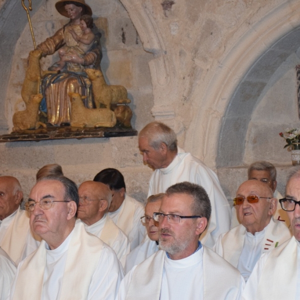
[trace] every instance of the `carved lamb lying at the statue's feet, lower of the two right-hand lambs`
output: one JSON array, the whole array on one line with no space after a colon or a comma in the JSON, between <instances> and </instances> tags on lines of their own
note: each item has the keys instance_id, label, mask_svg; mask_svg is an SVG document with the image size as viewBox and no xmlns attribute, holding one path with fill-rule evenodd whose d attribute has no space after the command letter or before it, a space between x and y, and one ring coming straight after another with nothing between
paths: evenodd
<instances>
[{"instance_id":1,"label":"carved lamb lying at the statue's feet, lower of the two right-hand lambs","mask_svg":"<svg viewBox=\"0 0 300 300\"><path fill-rule=\"evenodd\" d=\"M70 92L72 127L113 127L116 117L107 108L86 108L80 94Z\"/></svg>"}]
</instances>

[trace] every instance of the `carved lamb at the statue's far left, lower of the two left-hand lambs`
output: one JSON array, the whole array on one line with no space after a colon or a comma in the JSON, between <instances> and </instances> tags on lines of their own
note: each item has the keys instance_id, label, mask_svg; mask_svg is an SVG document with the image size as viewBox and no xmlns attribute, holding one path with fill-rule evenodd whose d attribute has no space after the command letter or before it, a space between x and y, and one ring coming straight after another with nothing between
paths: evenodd
<instances>
[{"instance_id":1,"label":"carved lamb at the statue's far left, lower of the two left-hand lambs","mask_svg":"<svg viewBox=\"0 0 300 300\"><path fill-rule=\"evenodd\" d=\"M31 95L26 109L17 111L12 116L12 131L27 130L38 128L40 125L46 127L46 124L39 122L38 108L42 99L42 94Z\"/></svg>"}]
</instances>

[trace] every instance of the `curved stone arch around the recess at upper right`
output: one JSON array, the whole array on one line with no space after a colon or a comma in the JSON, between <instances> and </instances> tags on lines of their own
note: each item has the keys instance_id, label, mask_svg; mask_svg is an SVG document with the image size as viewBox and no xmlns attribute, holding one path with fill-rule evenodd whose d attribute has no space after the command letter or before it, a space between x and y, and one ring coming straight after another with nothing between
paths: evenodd
<instances>
[{"instance_id":1,"label":"curved stone arch around the recess at upper right","mask_svg":"<svg viewBox=\"0 0 300 300\"><path fill-rule=\"evenodd\" d=\"M296 1L276 6L239 35L217 70L212 70L215 75L203 94L205 103L188 129L188 137L193 134L191 150L197 153L200 140L202 153L197 155L206 164L242 165L256 100L276 68L300 46L299 13Z\"/></svg>"}]
</instances>

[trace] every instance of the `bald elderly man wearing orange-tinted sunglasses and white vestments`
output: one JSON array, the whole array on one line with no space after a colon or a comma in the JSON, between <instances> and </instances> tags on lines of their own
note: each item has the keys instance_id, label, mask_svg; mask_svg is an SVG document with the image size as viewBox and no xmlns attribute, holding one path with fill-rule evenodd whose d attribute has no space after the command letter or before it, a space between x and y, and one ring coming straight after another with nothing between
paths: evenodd
<instances>
[{"instance_id":1,"label":"bald elderly man wearing orange-tinted sunglasses and white vestments","mask_svg":"<svg viewBox=\"0 0 300 300\"><path fill-rule=\"evenodd\" d=\"M233 199L241 222L218 238L215 251L236 267L247 281L264 252L290 238L290 231L272 217L277 206L271 188L260 180L247 180Z\"/></svg>"}]
</instances>

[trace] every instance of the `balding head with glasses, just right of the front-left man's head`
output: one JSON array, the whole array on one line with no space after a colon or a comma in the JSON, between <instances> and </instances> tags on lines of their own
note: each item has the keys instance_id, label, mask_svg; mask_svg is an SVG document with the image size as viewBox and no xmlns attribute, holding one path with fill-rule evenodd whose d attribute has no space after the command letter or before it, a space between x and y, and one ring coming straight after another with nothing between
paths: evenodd
<instances>
[{"instance_id":1,"label":"balding head with glasses, just right of the front-left man's head","mask_svg":"<svg viewBox=\"0 0 300 300\"><path fill-rule=\"evenodd\" d=\"M78 188L79 206L77 217L87 225L100 220L111 203L109 187L97 181L84 181Z\"/></svg>"}]
</instances>

